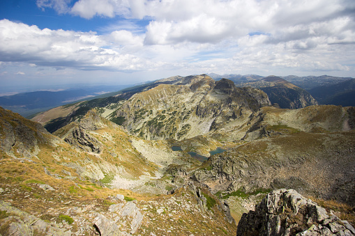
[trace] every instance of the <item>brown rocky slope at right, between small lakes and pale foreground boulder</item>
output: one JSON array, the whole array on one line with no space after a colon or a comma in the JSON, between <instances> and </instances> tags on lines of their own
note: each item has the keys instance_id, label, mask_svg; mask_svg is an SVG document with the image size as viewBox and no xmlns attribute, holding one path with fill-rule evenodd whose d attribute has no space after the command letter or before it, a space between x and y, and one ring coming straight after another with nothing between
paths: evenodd
<instances>
[{"instance_id":1,"label":"brown rocky slope at right, between small lakes and pale foreground boulder","mask_svg":"<svg viewBox=\"0 0 355 236\"><path fill-rule=\"evenodd\" d=\"M355 205L355 132L297 132L237 145L193 175L222 195L292 188Z\"/></svg>"}]
</instances>

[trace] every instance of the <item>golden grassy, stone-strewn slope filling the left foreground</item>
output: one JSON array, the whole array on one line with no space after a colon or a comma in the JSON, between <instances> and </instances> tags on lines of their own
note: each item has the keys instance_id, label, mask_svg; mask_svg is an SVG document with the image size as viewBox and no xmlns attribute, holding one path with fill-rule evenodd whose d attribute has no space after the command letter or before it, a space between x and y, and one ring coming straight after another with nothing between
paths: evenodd
<instances>
[{"instance_id":1,"label":"golden grassy, stone-strewn slope filling the left foreground","mask_svg":"<svg viewBox=\"0 0 355 236\"><path fill-rule=\"evenodd\" d=\"M197 162L163 141L130 137L93 111L59 129L61 139L11 111L0 114L1 235L235 234L228 204L203 184L158 180L171 164ZM144 195L127 190L135 188Z\"/></svg>"}]
</instances>

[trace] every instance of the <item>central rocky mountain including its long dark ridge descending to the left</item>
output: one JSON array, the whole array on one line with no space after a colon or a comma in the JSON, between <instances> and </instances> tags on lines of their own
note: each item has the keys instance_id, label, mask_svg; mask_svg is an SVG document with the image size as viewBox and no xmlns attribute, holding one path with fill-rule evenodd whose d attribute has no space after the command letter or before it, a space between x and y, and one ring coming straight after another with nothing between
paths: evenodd
<instances>
[{"instance_id":1,"label":"central rocky mountain including its long dark ridge descending to the left","mask_svg":"<svg viewBox=\"0 0 355 236\"><path fill-rule=\"evenodd\" d=\"M46 111L33 120L54 132L96 108L101 116L146 139L181 140L205 134L229 120L248 119L253 111L271 105L259 89L236 88L233 81L214 81L206 74L169 77L122 92Z\"/></svg>"}]
</instances>

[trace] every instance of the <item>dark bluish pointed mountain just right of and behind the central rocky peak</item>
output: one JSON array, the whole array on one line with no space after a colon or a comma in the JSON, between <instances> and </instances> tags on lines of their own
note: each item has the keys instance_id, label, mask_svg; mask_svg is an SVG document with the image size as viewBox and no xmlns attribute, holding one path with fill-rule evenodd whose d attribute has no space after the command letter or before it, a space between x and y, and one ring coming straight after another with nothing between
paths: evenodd
<instances>
[{"instance_id":1,"label":"dark bluish pointed mountain just right of and behind the central rocky peak","mask_svg":"<svg viewBox=\"0 0 355 236\"><path fill-rule=\"evenodd\" d=\"M299 109L317 104L310 93L280 77L269 76L257 81L242 83L239 86L261 89L269 96L269 100L273 104L278 104L280 108Z\"/></svg>"}]
</instances>

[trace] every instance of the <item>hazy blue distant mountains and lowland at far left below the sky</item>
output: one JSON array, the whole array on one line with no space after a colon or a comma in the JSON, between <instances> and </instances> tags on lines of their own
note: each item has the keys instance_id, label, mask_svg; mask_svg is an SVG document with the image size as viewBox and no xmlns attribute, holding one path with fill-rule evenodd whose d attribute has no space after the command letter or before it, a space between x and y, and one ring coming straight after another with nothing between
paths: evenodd
<instances>
[{"instance_id":1,"label":"hazy blue distant mountains and lowland at far left below the sky","mask_svg":"<svg viewBox=\"0 0 355 236\"><path fill-rule=\"evenodd\" d=\"M89 100L94 97L107 97L113 91L119 91L128 86L84 86L83 88L68 88L63 91L35 91L29 93L17 93L0 97L0 106L22 116L31 116L40 111L46 111L63 104L73 103L78 100ZM103 95L106 94L106 95ZM116 95L116 94L114 94Z\"/></svg>"}]
</instances>

